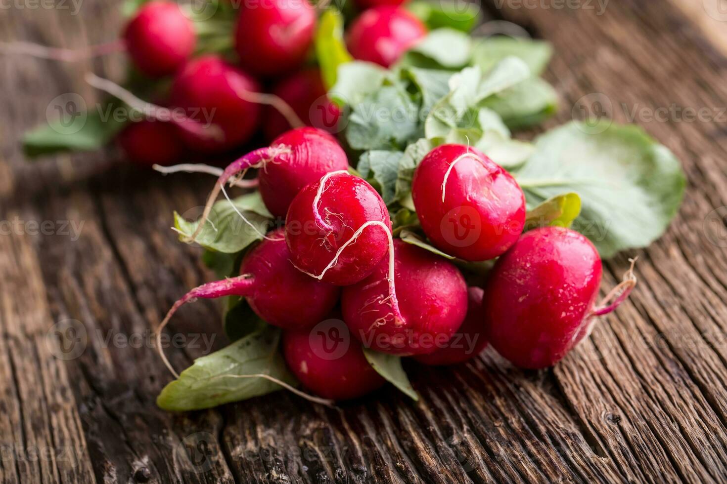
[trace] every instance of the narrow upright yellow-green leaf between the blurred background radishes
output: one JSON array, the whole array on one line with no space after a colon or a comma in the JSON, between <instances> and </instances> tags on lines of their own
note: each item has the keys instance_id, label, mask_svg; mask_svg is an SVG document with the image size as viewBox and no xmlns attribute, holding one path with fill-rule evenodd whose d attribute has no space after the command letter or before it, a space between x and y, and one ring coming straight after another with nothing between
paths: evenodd
<instances>
[{"instance_id":1,"label":"narrow upright yellow-green leaf between the blurred background radishes","mask_svg":"<svg viewBox=\"0 0 727 484\"><path fill-rule=\"evenodd\" d=\"M343 16L335 8L326 9L318 21L316 57L326 89L336 83L338 67L353 60L343 40Z\"/></svg>"}]
</instances>

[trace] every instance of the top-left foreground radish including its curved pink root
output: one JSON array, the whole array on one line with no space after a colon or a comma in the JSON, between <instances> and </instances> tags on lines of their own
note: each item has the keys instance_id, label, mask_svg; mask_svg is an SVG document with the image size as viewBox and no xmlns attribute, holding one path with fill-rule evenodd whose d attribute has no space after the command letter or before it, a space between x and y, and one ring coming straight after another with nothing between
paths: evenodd
<instances>
[{"instance_id":1,"label":"top-left foreground radish including its curved pink root","mask_svg":"<svg viewBox=\"0 0 727 484\"><path fill-rule=\"evenodd\" d=\"M249 168L262 168L258 175L260 195L274 216L284 216L288 206L303 186L321 179L330 171L348 167L346 154L336 140L317 128L297 128L278 136L269 147L255 149L233 161L214 184L201 221L190 237L193 242L212 210L225 183ZM225 196L227 194L225 193Z\"/></svg>"}]
</instances>

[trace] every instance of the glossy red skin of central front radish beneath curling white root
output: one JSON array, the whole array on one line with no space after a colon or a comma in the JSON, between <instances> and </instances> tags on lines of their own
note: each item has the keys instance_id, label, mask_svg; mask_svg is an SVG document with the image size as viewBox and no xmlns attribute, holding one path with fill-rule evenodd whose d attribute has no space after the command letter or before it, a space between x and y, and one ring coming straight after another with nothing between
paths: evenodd
<instances>
[{"instance_id":1,"label":"glossy red skin of central front radish beneath curling white root","mask_svg":"<svg viewBox=\"0 0 727 484\"><path fill-rule=\"evenodd\" d=\"M391 230L389 210L373 186L358 176L341 173L326 181L318 206L333 231L318 226L313 216L313 200L320 181L308 184L293 199L286 216L286 242L293 263L310 274L321 274L340 247L368 221L381 221ZM326 211L327 210L327 211ZM326 215L327 213L335 215ZM369 226L346 247L324 281L347 286L356 284L387 255L389 242L381 226Z\"/></svg>"}]
</instances>

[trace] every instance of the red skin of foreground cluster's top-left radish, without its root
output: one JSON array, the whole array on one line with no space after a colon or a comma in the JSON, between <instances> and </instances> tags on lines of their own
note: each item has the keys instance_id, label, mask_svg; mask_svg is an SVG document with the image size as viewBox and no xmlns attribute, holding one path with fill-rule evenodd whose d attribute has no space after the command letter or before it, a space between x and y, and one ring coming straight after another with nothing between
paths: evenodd
<instances>
[{"instance_id":1,"label":"red skin of foreground cluster's top-left radish, without its root","mask_svg":"<svg viewBox=\"0 0 727 484\"><path fill-rule=\"evenodd\" d=\"M297 128L278 136L270 146L285 145L291 155L280 155L276 163L260 170L260 195L265 207L276 217L284 217L300 190L321 179L329 171L348 168L348 158L340 144L317 128Z\"/></svg>"}]
</instances>

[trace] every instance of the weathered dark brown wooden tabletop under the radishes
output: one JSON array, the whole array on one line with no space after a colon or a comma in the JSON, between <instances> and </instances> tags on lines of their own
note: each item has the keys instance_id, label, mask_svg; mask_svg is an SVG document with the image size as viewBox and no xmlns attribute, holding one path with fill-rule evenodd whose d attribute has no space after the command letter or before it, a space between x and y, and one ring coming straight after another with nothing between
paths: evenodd
<instances>
[{"instance_id":1,"label":"weathered dark brown wooden tabletop under the radishes","mask_svg":"<svg viewBox=\"0 0 727 484\"><path fill-rule=\"evenodd\" d=\"M70 2L31 4L0 11L1 40L79 47L111 40L121 25L104 1L84 1L78 15ZM150 345L123 336L148 335L177 297L212 278L198 250L169 230L172 210L199 205L212 180L164 178L113 153L26 163L20 134L44 120L58 94L95 102L83 71L121 78L122 56L79 65L4 56L0 221L22 229L0 234L0 480L724 482L727 238L719 217L708 216L727 213L727 22L709 17L701 0L613 0L603 15L596 2L499 4L486 15L555 44L547 78L562 102L549 126L593 93L610 99L621 121L643 107L712 113L635 120L683 160L689 184L662 239L606 264L604 288L639 255L628 303L554 369L521 372L489 350L453 368L411 366L418 403L386 388L326 409L279 392L168 414L154 403L168 372ZM533 5L542 6L525 7ZM52 221L54 233L35 234L33 221ZM66 234L64 221L83 223L80 237ZM80 321L87 345L58 358L68 353L53 330L68 320ZM217 305L199 302L170 328L212 337L218 321ZM73 333L63 335L73 343ZM218 335L214 348L224 344ZM204 347L168 353L182 368Z\"/></svg>"}]
</instances>

